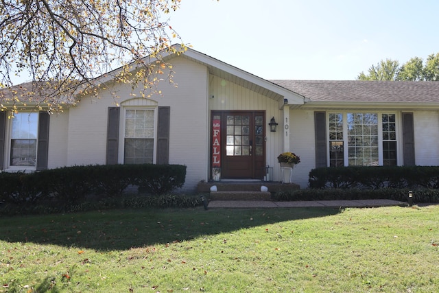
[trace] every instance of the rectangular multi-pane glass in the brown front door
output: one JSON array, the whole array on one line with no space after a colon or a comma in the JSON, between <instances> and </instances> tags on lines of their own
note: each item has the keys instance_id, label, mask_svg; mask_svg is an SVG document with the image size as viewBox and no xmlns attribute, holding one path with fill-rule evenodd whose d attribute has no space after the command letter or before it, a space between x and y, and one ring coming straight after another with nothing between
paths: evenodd
<instances>
[{"instance_id":1,"label":"rectangular multi-pane glass in the brown front door","mask_svg":"<svg viewBox=\"0 0 439 293\"><path fill-rule=\"evenodd\" d=\"M226 155L250 156L250 116L227 115Z\"/></svg>"}]
</instances>

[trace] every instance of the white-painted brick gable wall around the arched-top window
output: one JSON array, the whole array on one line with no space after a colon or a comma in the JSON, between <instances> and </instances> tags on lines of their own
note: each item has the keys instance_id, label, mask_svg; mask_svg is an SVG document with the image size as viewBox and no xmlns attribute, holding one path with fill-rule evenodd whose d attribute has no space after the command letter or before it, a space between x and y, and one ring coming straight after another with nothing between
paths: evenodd
<instances>
[{"instance_id":1,"label":"white-painted brick gable wall around the arched-top window","mask_svg":"<svg viewBox=\"0 0 439 293\"><path fill-rule=\"evenodd\" d=\"M187 165L185 188L191 189L200 180L206 180L208 174L208 72L206 67L182 57L172 60L172 64L174 82L178 87L162 80L158 83L162 93L152 95L150 104L171 108L169 163ZM122 104L128 99L139 97L140 91L141 87L132 90L130 85L117 84L103 91L99 99L85 97L78 106L71 108L67 165L106 163L108 107L115 106L112 93L117 93L119 98L116 102ZM123 141L123 137L119 140ZM122 155L119 152L120 162L123 161L121 156L123 152Z\"/></svg>"}]
</instances>

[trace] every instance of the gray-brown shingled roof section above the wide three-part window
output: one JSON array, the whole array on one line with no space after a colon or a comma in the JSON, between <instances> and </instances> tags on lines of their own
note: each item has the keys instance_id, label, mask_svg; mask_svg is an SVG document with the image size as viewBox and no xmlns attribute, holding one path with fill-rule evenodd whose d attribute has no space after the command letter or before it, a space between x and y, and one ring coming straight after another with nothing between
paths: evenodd
<instances>
[{"instance_id":1,"label":"gray-brown shingled roof section above the wide three-part window","mask_svg":"<svg viewBox=\"0 0 439 293\"><path fill-rule=\"evenodd\" d=\"M439 103L439 82L270 80L311 102Z\"/></svg>"}]
</instances>

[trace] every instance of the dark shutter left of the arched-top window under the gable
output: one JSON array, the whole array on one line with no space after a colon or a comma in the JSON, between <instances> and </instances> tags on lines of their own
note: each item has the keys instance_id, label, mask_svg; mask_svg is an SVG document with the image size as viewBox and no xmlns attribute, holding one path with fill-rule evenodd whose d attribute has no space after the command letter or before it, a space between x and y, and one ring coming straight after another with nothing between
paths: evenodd
<instances>
[{"instance_id":1,"label":"dark shutter left of the arched-top window under the gable","mask_svg":"<svg viewBox=\"0 0 439 293\"><path fill-rule=\"evenodd\" d=\"M108 107L107 152L106 152L107 165L115 165L118 163L119 117L120 117L119 107Z\"/></svg>"}]
</instances>

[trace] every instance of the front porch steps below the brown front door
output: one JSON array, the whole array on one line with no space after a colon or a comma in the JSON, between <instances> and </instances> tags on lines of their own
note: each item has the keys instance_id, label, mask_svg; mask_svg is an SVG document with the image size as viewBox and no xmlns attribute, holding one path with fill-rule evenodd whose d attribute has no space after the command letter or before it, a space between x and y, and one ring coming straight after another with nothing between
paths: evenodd
<instances>
[{"instance_id":1,"label":"front porch steps below the brown front door","mask_svg":"<svg viewBox=\"0 0 439 293\"><path fill-rule=\"evenodd\" d=\"M216 186L217 191L211 191L212 186ZM261 191L262 186L267 187L268 191ZM209 192L209 200L272 200L272 194L277 191L292 191L294 189L300 189L299 185L259 180L198 183L198 192Z\"/></svg>"}]
</instances>

